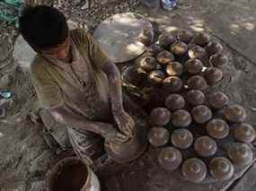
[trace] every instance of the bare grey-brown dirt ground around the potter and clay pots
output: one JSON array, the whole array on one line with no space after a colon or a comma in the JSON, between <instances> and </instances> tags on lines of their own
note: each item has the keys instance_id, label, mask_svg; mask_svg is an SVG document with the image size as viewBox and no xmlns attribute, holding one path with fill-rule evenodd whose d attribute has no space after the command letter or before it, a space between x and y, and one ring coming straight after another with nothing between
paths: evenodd
<instances>
[{"instance_id":1,"label":"bare grey-brown dirt ground around the potter and clay pots","mask_svg":"<svg viewBox=\"0 0 256 191\"><path fill-rule=\"evenodd\" d=\"M256 1L180 0L175 11L159 9L154 13L136 0L94 0L91 11L82 9L84 2L59 0L54 4L80 27L91 31L113 13L134 11L145 15L160 31L186 28L209 32L225 45L230 59L225 80L215 89L243 105L248 122L256 126ZM0 22L0 39L13 43L16 34L13 26ZM12 100L0 100L7 110L7 116L0 119L0 191L44 191L46 172L59 159L57 143L45 127L35 126L28 117L36 101L29 74L13 62L0 70L0 77L1 90L14 93ZM256 182L252 181L253 185ZM251 186L237 190L256 190Z\"/></svg>"}]
</instances>

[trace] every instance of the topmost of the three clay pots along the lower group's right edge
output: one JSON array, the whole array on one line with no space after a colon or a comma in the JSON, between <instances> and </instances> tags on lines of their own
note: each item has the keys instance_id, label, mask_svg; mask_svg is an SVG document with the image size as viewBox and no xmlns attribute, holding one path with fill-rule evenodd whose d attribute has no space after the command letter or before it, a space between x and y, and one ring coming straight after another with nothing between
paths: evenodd
<instances>
[{"instance_id":1,"label":"topmost of the three clay pots along the lower group's right edge","mask_svg":"<svg viewBox=\"0 0 256 191\"><path fill-rule=\"evenodd\" d=\"M238 105L232 105L224 109L225 118L232 123L243 122L246 118L245 110Z\"/></svg>"}]
</instances>

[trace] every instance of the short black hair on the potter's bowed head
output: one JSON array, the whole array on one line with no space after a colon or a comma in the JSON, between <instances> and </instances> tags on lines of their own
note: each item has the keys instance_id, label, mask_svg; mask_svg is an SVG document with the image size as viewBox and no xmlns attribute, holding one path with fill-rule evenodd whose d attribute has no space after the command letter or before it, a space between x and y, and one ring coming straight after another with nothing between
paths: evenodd
<instances>
[{"instance_id":1,"label":"short black hair on the potter's bowed head","mask_svg":"<svg viewBox=\"0 0 256 191\"><path fill-rule=\"evenodd\" d=\"M68 37L65 15L50 6L26 7L19 24L22 37L36 51L54 48Z\"/></svg>"}]
</instances>

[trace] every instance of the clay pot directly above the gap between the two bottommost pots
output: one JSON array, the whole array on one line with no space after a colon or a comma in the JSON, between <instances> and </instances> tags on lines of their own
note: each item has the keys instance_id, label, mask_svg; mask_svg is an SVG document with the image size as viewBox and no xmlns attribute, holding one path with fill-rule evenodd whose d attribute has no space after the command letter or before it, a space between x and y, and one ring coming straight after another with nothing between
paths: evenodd
<instances>
[{"instance_id":1,"label":"clay pot directly above the gap between the two bottommost pots","mask_svg":"<svg viewBox=\"0 0 256 191\"><path fill-rule=\"evenodd\" d=\"M215 140L209 136L201 136L194 143L194 149L201 157L209 157L216 153L217 146Z\"/></svg>"}]
</instances>

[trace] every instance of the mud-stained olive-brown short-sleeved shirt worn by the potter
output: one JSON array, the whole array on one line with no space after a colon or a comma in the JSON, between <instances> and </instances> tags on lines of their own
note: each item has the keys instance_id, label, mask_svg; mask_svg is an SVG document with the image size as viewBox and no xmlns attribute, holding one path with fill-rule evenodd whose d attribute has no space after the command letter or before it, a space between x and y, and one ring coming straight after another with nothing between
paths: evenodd
<instances>
[{"instance_id":1,"label":"mud-stained olive-brown short-sleeved shirt worn by the potter","mask_svg":"<svg viewBox=\"0 0 256 191\"><path fill-rule=\"evenodd\" d=\"M40 104L45 109L66 104L91 120L106 121L109 118L106 113L110 113L109 86L99 65L110 60L84 30L72 30L70 34L71 63L39 54L31 64L32 82ZM83 94L84 99L77 100L78 94Z\"/></svg>"}]
</instances>

